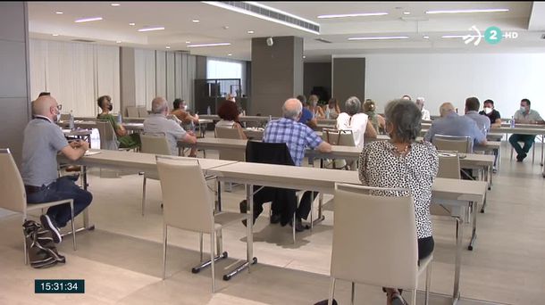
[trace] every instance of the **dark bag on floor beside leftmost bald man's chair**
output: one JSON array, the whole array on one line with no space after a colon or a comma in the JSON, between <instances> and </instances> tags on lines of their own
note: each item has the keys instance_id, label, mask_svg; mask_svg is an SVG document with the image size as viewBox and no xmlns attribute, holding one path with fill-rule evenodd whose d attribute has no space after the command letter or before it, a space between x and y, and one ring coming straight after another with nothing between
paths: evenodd
<instances>
[{"instance_id":1,"label":"dark bag on floor beside leftmost bald man's chair","mask_svg":"<svg viewBox=\"0 0 545 305\"><path fill-rule=\"evenodd\" d=\"M66 262L63 255L57 252L51 231L34 220L25 221L22 227L22 232L27 241L30 266L33 268L49 268L57 263Z\"/></svg>"}]
</instances>

